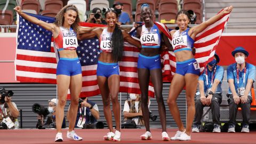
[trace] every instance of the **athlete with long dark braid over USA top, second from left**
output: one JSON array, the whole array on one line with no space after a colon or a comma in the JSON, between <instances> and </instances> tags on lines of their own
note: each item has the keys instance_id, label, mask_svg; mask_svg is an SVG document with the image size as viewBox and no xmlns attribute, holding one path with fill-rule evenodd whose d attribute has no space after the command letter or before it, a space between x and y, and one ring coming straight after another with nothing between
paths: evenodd
<instances>
[{"instance_id":1,"label":"athlete with long dark braid over USA top, second from left","mask_svg":"<svg viewBox=\"0 0 256 144\"><path fill-rule=\"evenodd\" d=\"M121 140L120 132L120 104L118 102L118 92L120 86L119 65L123 54L124 40L136 47L141 47L139 41L133 39L128 33L118 28L117 12L109 10L105 13L107 27L88 28L90 33L85 33L79 38L93 38L97 36L100 40L100 56L97 67L97 80L103 101L104 115L109 127L109 133L103 138L105 140ZM110 99L113 105L113 113L116 121L116 131L113 130L112 114L110 109Z\"/></svg>"}]
</instances>

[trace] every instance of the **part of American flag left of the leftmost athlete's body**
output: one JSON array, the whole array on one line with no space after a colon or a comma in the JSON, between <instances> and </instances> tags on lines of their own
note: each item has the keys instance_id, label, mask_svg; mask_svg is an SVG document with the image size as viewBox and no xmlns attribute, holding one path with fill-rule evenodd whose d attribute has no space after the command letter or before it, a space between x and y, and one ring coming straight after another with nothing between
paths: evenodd
<instances>
[{"instance_id":1,"label":"part of American flag left of the leftmost athlete's body","mask_svg":"<svg viewBox=\"0 0 256 144\"><path fill-rule=\"evenodd\" d=\"M55 18L29 14L45 22ZM17 81L56 83L57 59L51 42L52 33L18 17L15 75Z\"/></svg>"}]
</instances>

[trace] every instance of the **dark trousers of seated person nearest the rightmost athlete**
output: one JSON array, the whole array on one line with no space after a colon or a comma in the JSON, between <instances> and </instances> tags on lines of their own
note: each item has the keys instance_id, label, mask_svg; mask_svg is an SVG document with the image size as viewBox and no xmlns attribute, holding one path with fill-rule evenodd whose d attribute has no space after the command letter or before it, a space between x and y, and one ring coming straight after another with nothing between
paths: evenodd
<instances>
[{"instance_id":1,"label":"dark trousers of seated person nearest the rightmost athlete","mask_svg":"<svg viewBox=\"0 0 256 144\"><path fill-rule=\"evenodd\" d=\"M207 96L206 96L207 98ZM214 93L212 96L212 102L210 105L211 111L212 111L212 121L214 124L220 125L220 103L222 101L222 95L221 93ZM207 107L206 105L203 105L200 99L196 100L195 108L196 108L196 115L194 119L194 124L201 124L201 119L203 115L203 108Z\"/></svg>"}]
</instances>

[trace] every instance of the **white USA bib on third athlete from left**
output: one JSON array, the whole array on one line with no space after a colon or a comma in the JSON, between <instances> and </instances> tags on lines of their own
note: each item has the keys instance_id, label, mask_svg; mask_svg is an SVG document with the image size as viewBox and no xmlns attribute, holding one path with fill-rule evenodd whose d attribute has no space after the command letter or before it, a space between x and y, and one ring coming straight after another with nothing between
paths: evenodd
<instances>
[{"instance_id":1,"label":"white USA bib on third athlete from left","mask_svg":"<svg viewBox=\"0 0 256 144\"><path fill-rule=\"evenodd\" d=\"M141 45L155 46L158 45L158 34L144 34L140 37Z\"/></svg>"}]
</instances>

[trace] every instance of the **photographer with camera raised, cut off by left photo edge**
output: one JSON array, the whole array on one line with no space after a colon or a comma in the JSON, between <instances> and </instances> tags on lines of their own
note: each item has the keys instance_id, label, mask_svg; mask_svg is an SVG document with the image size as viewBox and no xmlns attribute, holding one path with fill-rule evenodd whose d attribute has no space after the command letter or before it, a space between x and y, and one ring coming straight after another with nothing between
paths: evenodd
<instances>
[{"instance_id":1,"label":"photographer with camera raised, cut off by left photo edge","mask_svg":"<svg viewBox=\"0 0 256 144\"><path fill-rule=\"evenodd\" d=\"M19 116L16 104L11 101L12 95L12 91L0 87L0 129L14 129L15 119Z\"/></svg>"}]
</instances>

